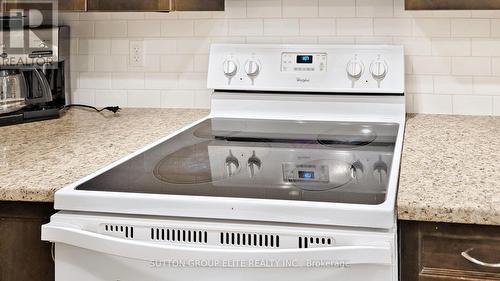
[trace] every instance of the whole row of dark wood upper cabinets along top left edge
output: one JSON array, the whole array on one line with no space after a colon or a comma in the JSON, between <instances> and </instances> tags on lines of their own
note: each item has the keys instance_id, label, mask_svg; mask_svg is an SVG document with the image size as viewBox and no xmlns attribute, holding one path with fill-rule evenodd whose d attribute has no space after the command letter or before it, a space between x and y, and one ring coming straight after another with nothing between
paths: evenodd
<instances>
[{"instance_id":1,"label":"whole row of dark wood upper cabinets along top left edge","mask_svg":"<svg viewBox=\"0 0 500 281\"><path fill-rule=\"evenodd\" d=\"M0 0L1 10L41 8L31 1ZM66 12L170 12L224 11L224 0L59 0L59 10Z\"/></svg>"}]
</instances>

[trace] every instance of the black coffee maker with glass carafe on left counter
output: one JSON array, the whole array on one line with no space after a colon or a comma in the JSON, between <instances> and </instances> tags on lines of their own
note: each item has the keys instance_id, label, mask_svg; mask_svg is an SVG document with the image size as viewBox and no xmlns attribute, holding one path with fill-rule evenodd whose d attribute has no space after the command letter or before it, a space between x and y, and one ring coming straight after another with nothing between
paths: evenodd
<instances>
[{"instance_id":1,"label":"black coffee maker with glass carafe on left counter","mask_svg":"<svg viewBox=\"0 0 500 281\"><path fill-rule=\"evenodd\" d=\"M0 126L60 117L70 101L69 27L0 30Z\"/></svg>"}]
</instances>

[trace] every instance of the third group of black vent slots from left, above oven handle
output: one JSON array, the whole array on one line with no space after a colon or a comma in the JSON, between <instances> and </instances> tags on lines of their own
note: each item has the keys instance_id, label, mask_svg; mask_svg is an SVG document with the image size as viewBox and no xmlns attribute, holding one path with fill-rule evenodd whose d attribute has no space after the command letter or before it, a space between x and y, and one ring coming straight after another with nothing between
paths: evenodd
<instances>
[{"instance_id":1,"label":"third group of black vent slots from left, above oven handle","mask_svg":"<svg viewBox=\"0 0 500 281\"><path fill-rule=\"evenodd\" d=\"M279 248L280 236L258 233L221 232L220 244L230 246Z\"/></svg>"}]
</instances>

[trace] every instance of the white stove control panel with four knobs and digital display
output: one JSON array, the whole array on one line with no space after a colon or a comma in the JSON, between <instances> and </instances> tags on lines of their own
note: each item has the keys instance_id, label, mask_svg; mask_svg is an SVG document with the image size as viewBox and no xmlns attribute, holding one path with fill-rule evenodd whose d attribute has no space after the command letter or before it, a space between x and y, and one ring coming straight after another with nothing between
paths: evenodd
<instances>
[{"instance_id":1,"label":"white stove control panel with four knobs and digital display","mask_svg":"<svg viewBox=\"0 0 500 281\"><path fill-rule=\"evenodd\" d=\"M404 73L396 45L213 44L208 88L402 95Z\"/></svg>"}]
</instances>

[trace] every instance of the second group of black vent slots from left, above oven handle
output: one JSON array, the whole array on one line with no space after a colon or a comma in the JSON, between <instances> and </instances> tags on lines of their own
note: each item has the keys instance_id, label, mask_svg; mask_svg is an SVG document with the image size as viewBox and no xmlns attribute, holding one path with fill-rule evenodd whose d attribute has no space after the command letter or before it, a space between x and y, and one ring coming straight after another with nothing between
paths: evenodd
<instances>
[{"instance_id":1,"label":"second group of black vent slots from left, above oven handle","mask_svg":"<svg viewBox=\"0 0 500 281\"><path fill-rule=\"evenodd\" d=\"M208 243L208 233L201 230L183 230L152 227L151 240L206 244Z\"/></svg>"}]
</instances>

